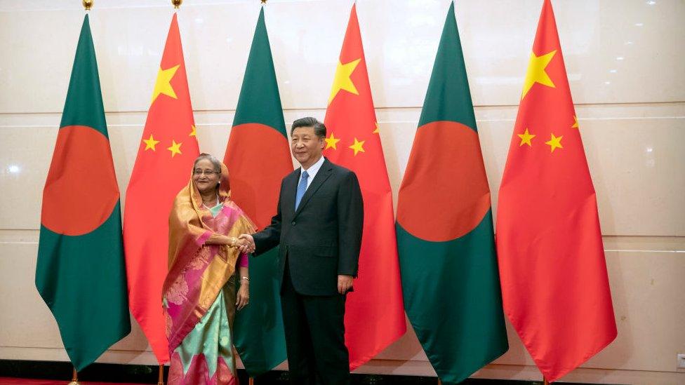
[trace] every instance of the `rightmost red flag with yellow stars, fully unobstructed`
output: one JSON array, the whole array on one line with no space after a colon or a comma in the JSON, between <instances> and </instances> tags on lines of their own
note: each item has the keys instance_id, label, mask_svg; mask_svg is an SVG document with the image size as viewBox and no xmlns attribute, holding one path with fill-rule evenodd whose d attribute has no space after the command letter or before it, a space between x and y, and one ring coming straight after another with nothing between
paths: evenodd
<instances>
[{"instance_id":1,"label":"rightmost red flag with yellow stars, fully unobstructed","mask_svg":"<svg viewBox=\"0 0 685 385\"><path fill-rule=\"evenodd\" d=\"M505 313L548 381L616 338L597 198L545 0L499 192Z\"/></svg>"}]
</instances>

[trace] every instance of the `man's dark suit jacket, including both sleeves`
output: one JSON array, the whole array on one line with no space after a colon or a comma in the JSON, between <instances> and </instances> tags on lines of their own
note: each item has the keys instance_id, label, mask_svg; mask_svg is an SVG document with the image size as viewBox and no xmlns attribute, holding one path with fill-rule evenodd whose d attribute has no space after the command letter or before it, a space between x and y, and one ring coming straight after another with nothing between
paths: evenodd
<instances>
[{"instance_id":1,"label":"man's dark suit jacket, including both sleeves","mask_svg":"<svg viewBox=\"0 0 685 385\"><path fill-rule=\"evenodd\" d=\"M269 227L254 234L255 255L280 244L281 283L287 259L297 292L335 295L338 274L357 276L364 225L359 181L351 170L324 159L295 211L301 170L281 182L277 214Z\"/></svg>"}]
</instances>

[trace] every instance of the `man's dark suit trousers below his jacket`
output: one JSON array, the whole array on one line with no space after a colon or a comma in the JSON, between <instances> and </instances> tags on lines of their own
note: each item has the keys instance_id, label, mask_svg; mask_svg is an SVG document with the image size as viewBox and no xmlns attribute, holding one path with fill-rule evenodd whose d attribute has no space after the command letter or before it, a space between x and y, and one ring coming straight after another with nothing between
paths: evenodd
<instances>
[{"instance_id":1,"label":"man's dark suit trousers below his jacket","mask_svg":"<svg viewBox=\"0 0 685 385\"><path fill-rule=\"evenodd\" d=\"M350 356L345 346L345 295L301 295L286 261L281 311L291 384L347 385Z\"/></svg>"}]
</instances>

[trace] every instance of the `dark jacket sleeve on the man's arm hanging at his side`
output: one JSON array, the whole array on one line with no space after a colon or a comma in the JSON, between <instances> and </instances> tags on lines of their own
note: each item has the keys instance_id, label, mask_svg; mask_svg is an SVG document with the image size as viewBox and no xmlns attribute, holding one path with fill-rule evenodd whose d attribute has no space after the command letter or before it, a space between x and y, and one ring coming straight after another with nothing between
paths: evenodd
<instances>
[{"instance_id":1,"label":"dark jacket sleeve on the man's arm hanging at his side","mask_svg":"<svg viewBox=\"0 0 685 385\"><path fill-rule=\"evenodd\" d=\"M357 175L350 172L338 191L338 274L357 276L363 227L364 200Z\"/></svg>"}]
</instances>

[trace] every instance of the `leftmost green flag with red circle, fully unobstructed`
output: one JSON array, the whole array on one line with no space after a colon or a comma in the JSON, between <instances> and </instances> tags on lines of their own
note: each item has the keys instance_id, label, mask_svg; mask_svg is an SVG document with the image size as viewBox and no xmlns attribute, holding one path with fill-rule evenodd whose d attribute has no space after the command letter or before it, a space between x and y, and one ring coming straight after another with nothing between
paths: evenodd
<instances>
[{"instance_id":1,"label":"leftmost green flag with red circle, fully unobstructed","mask_svg":"<svg viewBox=\"0 0 685 385\"><path fill-rule=\"evenodd\" d=\"M43 190L36 288L81 370L131 332L119 187L84 20Z\"/></svg>"}]
</instances>

